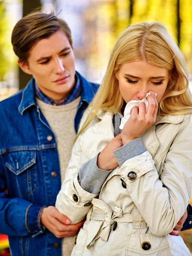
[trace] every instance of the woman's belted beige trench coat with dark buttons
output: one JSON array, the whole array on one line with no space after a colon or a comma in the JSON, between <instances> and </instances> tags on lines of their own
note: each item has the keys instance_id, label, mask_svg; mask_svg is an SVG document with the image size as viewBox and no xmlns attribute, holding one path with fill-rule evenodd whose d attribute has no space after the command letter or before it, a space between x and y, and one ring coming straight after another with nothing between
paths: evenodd
<instances>
[{"instance_id":1,"label":"woman's belted beige trench coat with dark buttons","mask_svg":"<svg viewBox=\"0 0 192 256\"><path fill-rule=\"evenodd\" d=\"M191 116L157 116L142 135L147 151L114 169L93 195L79 185L78 171L113 139L112 119L99 111L79 136L57 197L56 208L73 223L87 215L71 255L190 256L183 239L169 233L192 194Z\"/></svg>"}]
</instances>

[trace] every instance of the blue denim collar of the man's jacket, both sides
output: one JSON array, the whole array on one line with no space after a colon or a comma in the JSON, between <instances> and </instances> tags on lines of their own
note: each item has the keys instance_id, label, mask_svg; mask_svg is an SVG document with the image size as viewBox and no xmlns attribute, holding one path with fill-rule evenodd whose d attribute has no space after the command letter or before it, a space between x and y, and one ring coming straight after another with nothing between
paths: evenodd
<instances>
[{"instance_id":1,"label":"blue denim collar of the man's jacket, both sides","mask_svg":"<svg viewBox=\"0 0 192 256\"><path fill-rule=\"evenodd\" d=\"M93 95L96 93L96 88L93 87L93 84L88 82L84 77L82 77L78 72L76 72L80 83L81 83L81 102L87 102L87 105L93 99ZM18 110L21 115L26 109L30 108L32 105L37 105L35 100L35 79L32 78L27 86L23 89L23 95L18 107Z\"/></svg>"}]
</instances>

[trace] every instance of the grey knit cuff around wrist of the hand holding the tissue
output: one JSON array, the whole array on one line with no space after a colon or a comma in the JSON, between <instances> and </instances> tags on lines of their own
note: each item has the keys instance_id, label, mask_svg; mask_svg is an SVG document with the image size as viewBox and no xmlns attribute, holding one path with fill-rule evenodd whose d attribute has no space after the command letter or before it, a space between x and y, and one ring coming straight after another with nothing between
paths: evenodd
<instances>
[{"instance_id":1,"label":"grey knit cuff around wrist of the hand holding the tissue","mask_svg":"<svg viewBox=\"0 0 192 256\"><path fill-rule=\"evenodd\" d=\"M119 163L119 166L121 167L126 160L135 156L139 156L140 154L143 154L145 151L147 150L144 147L141 138L137 138L135 140L131 140L122 147L117 148L115 151L113 151L113 154L117 162Z\"/></svg>"}]
</instances>

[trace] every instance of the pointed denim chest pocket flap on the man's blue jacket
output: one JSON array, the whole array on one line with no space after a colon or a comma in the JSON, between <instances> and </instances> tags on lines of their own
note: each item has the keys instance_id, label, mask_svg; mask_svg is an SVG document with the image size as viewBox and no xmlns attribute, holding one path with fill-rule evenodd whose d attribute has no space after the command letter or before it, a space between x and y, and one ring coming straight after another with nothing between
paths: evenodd
<instances>
[{"instance_id":1,"label":"pointed denim chest pocket flap on the man's blue jacket","mask_svg":"<svg viewBox=\"0 0 192 256\"><path fill-rule=\"evenodd\" d=\"M20 175L36 162L35 151L10 152L6 159L6 167L15 175Z\"/></svg>"}]
</instances>

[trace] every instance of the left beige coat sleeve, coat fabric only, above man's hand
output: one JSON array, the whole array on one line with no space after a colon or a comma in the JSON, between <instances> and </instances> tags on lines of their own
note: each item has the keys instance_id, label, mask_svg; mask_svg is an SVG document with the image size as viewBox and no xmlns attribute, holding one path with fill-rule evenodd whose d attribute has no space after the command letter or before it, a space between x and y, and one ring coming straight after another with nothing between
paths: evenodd
<instances>
[{"instance_id":1,"label":"left beige coat sleeve, coat fabric only, above man's hand","mask_svg":"<svg viewBox=\"0 0 192 256\"><path fill-rule=\"evenodd\" d=\"M81 136L72 149L72 155L66 170L65 179L58 193L55 207L71 220L71 224L79 223L91 208L89 204L97 195L81 188L78 172L82 165Z\"/></svg>"}]
</instances>

